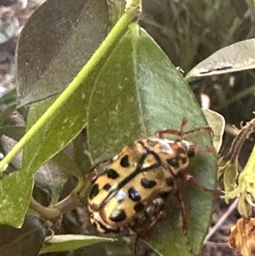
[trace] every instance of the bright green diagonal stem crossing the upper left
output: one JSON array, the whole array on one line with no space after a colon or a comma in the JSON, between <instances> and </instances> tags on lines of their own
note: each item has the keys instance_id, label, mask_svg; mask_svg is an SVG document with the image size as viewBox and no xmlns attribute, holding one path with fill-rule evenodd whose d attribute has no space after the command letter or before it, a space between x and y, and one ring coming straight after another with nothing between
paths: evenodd
<instances>
[{"instance_id":1,"label":"bright green diagonal stem crossing the upper left","mask_svg":"<svg viewBox=\"0 0 255 256\"><path fill-rule=\"evenodd\" d=\"M65 91L59 95L59 98L54 101L54 104L51 105L48 110L40 117L37 122L31 127L31 129L20 139L20 141L14 145L14 148L8 152L8 154L3 158L3 161L0 162L0 173L8 166L8 163L12 161L14 156L19 153L27 142L37 134L38 130L42 128L43 124L48 121L50 117L54 115L54 112L59 109L61 105L65 103L73 94L77 88L82 84L82 81L85 77L88 77L94 70L94 66L99 64L99 61L111 50L111 46L115 43L118 38L127 30L127 26L139 16L141 0L133 0L129 7L127 7L126 13L122 15L121 19L118 20L116 26L114 26L105 38L105 41L99 46L97 51L93 54L88 63L84 65L82 71L77 74L77 77L73 79L70 85L65 89Z\"/></svg>"}]
</instances>

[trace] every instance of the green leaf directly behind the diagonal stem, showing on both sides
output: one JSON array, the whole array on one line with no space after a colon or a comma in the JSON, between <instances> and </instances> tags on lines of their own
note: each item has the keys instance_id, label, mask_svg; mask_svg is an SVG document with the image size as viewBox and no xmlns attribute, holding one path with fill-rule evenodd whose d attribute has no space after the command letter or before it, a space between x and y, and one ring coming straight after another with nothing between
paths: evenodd
<instances>
[{"instance_id":1,"label":"green leaf directly behind the diagonal stem, showing on both sides","mask_svg":"<svg viewBox=\"0 0 255 256\"><path fill-rule=\"evenodd\" d=\"M82 130L87 121L86 107L91 89L89 86L79 87L29 141L23 152L24 170L33 174ZM37 122L55 99L54 96L31 105L27 117L27 129Z\"/></svg>"}]
</instances>

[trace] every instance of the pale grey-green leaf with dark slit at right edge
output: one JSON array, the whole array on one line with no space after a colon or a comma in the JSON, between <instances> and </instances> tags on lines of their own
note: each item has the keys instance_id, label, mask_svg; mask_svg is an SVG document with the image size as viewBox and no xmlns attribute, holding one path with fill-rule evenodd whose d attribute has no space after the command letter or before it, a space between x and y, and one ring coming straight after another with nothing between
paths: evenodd
<instances>
[{"instance_id":1,"label":"pale grey-green leaf with dark slit at right edge","mask_svg":"<svg viewBox=\"0 0 255 256\"><path fill-rule=\"evenodd\" d=\"M206 77L255 68L255 39L248 39L219 49L195 65L185 79Z\"/></svg>"}]
</instances>

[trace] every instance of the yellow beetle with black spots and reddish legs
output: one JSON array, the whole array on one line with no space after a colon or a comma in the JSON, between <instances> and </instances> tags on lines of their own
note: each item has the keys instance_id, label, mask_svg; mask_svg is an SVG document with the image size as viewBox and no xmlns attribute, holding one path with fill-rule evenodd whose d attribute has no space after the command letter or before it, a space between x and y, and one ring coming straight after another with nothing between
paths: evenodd
<instances>
[{"instance_id":1,"label":"yellow beetle with black spots and reddish legs","mask_svg":"<svg viewBox=\"0 0 255 256\"><path fill-rule=\"evenodd\" d=\"M184 118L180 130L159 130L154 137L137 139L118 155L94 165L91 172L105 163L103 173L94 175L88 195L90 219L99 232L118 233L126 228L140 232L150 228L164 216L164 200L171 193L181 205L183 227L187 230L187 213L177 181L181 178L205 188L184 172L196 150L184 135L212 129L206 126L184 132L186 122ZM164 134L179 138L165 139Z\"/></svg>"}]
</instances>

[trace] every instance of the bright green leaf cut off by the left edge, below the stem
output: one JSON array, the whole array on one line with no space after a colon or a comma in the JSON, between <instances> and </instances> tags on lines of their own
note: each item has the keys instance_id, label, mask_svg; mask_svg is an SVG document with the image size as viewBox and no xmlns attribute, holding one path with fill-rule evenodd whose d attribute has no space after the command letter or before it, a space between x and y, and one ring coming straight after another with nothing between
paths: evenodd
<instances>
[{"instance_id":1,"label":"bright green leaf cut off by the left edge, below the stem","mask_svg":"<svg viewBox=\"0 0 255 256\"><path fill-rule=\"evenodd\" d=\"M0 224L20 228L31 198L33 179L17 171L0 179ZM22 196L20 196L22 195Z\"/></svg>"}]
</instances>

